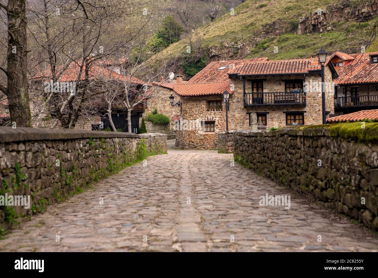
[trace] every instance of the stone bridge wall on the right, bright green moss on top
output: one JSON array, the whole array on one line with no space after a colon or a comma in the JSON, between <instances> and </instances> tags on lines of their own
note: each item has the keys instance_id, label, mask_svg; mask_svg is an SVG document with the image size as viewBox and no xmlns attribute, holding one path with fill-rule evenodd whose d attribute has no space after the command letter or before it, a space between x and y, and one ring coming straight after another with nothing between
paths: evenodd
<instances>
[{"instance_id":1,"label":"stone bridge wall on the right, bright green moss on top","mask_svg":"<svg viewBox=\"0 0 378 278\"><path fill-rule=\"evenodd\" d=\"M358 141L376 135L378 125L337 125L236 131L235 161L378 230L378 144ZM352 125L356 135L345 139Z\"/></svg>"}]
</instances>

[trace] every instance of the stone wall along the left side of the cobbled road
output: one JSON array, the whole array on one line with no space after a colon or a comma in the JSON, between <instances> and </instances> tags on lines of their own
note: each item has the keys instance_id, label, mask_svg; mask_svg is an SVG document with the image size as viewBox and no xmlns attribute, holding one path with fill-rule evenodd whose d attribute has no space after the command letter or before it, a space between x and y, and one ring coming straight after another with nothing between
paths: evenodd
<instances>
[{"instance_id":1,"label":"stone wall along the left side of the cobbled road","mask_svg":"<svg viewBox=\"0 0 378 278\"><path fill-rule=\"evenodd\" d=\"M0 196L31 197L28 209L0 207L0 228L148 155L167 152L167 136L59 129L0 129Z\"/></svg>"}]
</instances>

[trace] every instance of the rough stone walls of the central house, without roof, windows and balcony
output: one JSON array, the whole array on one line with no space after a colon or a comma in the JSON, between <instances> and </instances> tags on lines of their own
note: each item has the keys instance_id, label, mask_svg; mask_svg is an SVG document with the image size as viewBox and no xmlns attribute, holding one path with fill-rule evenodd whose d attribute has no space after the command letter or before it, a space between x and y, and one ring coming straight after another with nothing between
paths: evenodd
<instances>
[{"instance_id":1,"label":"rough stone walls of the central house, without roof, windows and balcony","mask_svg":"<svg viewBox=\"0 0 378 278\"><path fill-rule=\"evenodd\" d=\"M263 81L264 92L285 92L285 81L287 79L303 79L303 75L270 75L254 76L247 79L266 79ZM249 113L266 112L266 127L286 126L286 114L283 112L305 111L304 124L322 124L322 93L321 75L311 73L306 76L306 104L301 106L274 105L274 106L247 106L243 102L243 80L232 78L230 88L234 88L234 93L229 98L228 129L241 130L250 128ZM334 113L333 81L332 73L325 67L325 105L329 114ZM251 81L246 80L246 93L251 93ZM222 111L208 111L209 101L222 101ZM207 96L181 96L181 117L188 121L214 121L214 132L204 132L203 130L178 130L176 146L182 149L217 149L218 133L226 131L226 112L223 95Z\"/></svg>"}]
</instances>

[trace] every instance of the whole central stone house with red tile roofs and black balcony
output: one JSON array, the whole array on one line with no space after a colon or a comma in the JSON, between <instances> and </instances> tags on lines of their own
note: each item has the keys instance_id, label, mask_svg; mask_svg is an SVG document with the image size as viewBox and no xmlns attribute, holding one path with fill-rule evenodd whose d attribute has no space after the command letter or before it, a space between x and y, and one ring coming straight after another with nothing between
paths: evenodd
<instances>
[{"instance_id":1,"label":"whole central stone house with red tile roofs and black balcony","mask_svg":"<svg viewBox=\"0 0 378 278\"><path fill-rule=\"evenodd\" d=\"M325 64L327 117L334 113L333 80L338 76L329 61ZM250 128L252 113L268 128L322 123L321 67L317 57L217 63L217 67L222 66L209 65L174 89L181 101L180 121L186 122L180 123L177 131L179 148L217 148L218 133L226 130L225 90L231 93L229 130ZM201 122L203 128L193 128L190 123L194 122Z\"/></svg>"}]
</instances>

